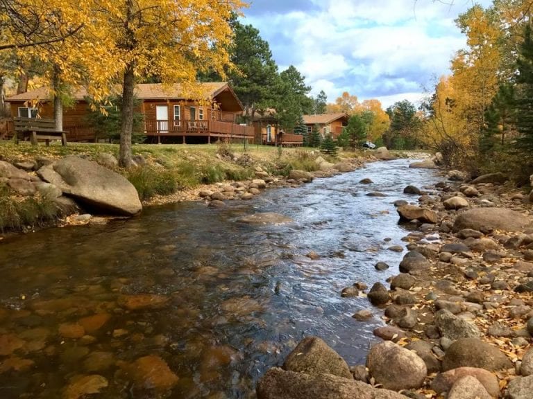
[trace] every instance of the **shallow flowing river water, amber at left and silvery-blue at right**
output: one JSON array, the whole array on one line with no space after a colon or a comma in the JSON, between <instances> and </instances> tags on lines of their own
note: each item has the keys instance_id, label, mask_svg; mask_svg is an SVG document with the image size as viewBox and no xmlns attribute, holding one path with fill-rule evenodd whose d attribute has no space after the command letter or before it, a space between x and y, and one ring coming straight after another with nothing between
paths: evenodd
<instances>
[{"instance_id":1,"label":"shallow flowing river water, amber at left and silvery-blue at right","mask_svg":"<svg viewBox=\"0 0 533 399\"><path fill-rule=\"evenodd\" d=\"M364 362L380 312L355 321L368 301L340 292L397 273L402 254L387 247L406 231L392 202L435 179L407 166L371 163L226 209L158 206L1 243L0 398L78 398L87 385L103 398L249 398L307 335ZM239 222L267 211L294 222ZM378 261L393 267L377 272Z\"/></svg>"}]
</instances>

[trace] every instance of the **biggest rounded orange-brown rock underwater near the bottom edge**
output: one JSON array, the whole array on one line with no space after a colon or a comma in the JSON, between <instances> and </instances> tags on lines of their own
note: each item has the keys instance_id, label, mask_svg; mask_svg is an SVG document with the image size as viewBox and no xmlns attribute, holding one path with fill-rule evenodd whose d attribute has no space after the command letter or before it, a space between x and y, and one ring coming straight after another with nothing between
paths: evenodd
<instances>
[{"instance_id":1,"label":"biggest rounded orange-brown rock underwater near the bottom edge","mask_svg":"<svg viewBox=\"0 0 533 399\"><path fill-rule=\"evenodd\" d=\"M178 376L169 369L167 362L155 355L139 357L132 364L123 364L122 369L135 382L135 385L142 389L167 391L179 380Z\"/></svg>"}]
</instances>

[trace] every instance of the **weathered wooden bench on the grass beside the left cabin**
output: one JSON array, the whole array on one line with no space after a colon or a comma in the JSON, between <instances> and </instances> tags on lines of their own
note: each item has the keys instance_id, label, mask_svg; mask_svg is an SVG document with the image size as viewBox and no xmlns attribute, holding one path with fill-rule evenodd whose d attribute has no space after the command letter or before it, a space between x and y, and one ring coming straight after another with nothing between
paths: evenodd
<instances>
[{"instance_id":1,"label":"weathered wooden bench on the grass beside the left cabin","mask_svg":"<svg viewBox=\"0 0 533 399\"><path fill-rule=\"evenodd\" d=\"M13 118L15 125L15 136L17 143L19 136L22 139L30 139L33 145L37 145L37 140L46 141L50 145L50 140L61 139L63 146L67 145L67 133L64 130L56 130L56 121L48 118Z\"/></svg>"}]
</instances>

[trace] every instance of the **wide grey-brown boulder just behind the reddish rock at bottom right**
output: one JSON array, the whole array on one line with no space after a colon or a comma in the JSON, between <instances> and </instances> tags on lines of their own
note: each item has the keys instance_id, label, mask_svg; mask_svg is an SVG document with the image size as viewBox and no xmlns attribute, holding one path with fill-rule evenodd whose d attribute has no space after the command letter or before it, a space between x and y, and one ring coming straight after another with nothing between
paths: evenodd
<instances>
[{"instance_id":1,"label":"wide grey-brown boulder just behind the reddish rock at bottom right","mask_svg":"<svg viewBox=\"0 0 533 399\"><path fill-rule=\"evenodd\" d=\"M477 367L489 371L511 369L513 364L498 348L477 338L459 338L444 355L442 369Z\"/></svg>"}]
</instances>

